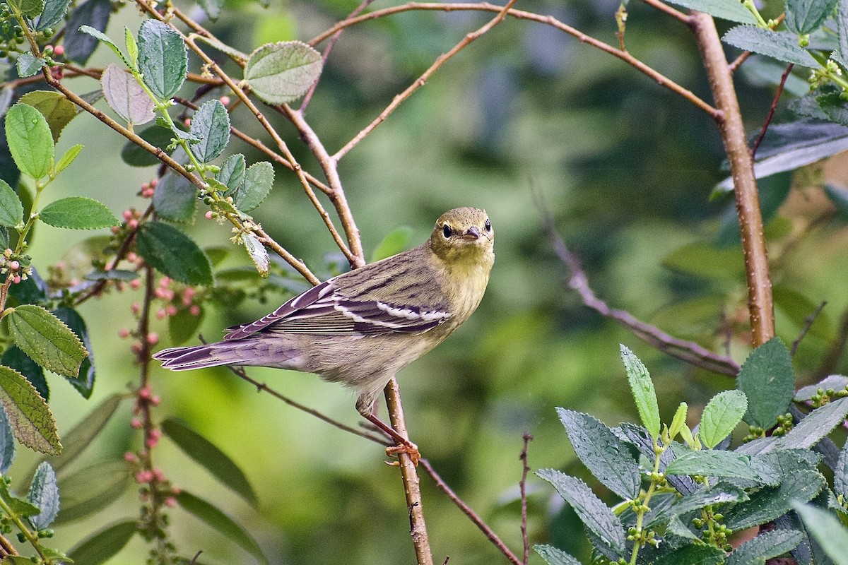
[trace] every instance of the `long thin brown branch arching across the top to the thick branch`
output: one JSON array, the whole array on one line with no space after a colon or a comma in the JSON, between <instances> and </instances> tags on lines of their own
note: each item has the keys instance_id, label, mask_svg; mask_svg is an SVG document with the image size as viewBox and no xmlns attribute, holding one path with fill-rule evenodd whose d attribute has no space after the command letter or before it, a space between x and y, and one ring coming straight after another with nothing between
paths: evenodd
<instances>
[{"instance_id":1,"label":"long thin brown branch arching across the top to the thick branch","mask_svg":"<svg viewBox=\"0 0 848 565\"><path fill-rule=\"evenodd\" d=\"M399 14L400 12L408 12L410 10L432 10L439 12L454 12L454 11L467 11L467 10L476 10L483 12L499 12L503 7L496 6L490 3L420 3L420 2L410 2L405 3L400 6L393 6L392 8L384 8L382 10L374 10L373 12L369 12L368 14L361 14L356 16L355 18L344 19L338 24L333 25L329 30L324 31L319 36L315 36L310 40L310 45L315 46L318 43L325 41L327 38L331 37L338 30L343 30L344 28L350 27L351 25L357 25L364 21L368 21L370 19L382 18L392 14ZM710 114L712 117L717 117L719 114L716 108L713 108L710 104L702 100L700 97L696 96L694 92L690 91L683 86L678 85L675 81L669 79L666 75L662 75L656 69L651 68L647 64L644 64L638 58L633 57L627 51L622 51L621 49L617 49L616 47L612 47L611 45L600 41L599 39L595 39L592 36L588 36L583 31L577 30L577 28L572 27L571 25L567 25L561 22L559 19L556 19L552 15L540 15L533 14L533 12L526 12L524 10L516 10L510 9L507 12L507 15L516 18L516 19L527 19L529 21L535 21L544 25L551 25L558 30L561 30L567 33L570 36L574 36L577 38L577 41L586 43L592 47L600 49L605 53L611 54L613 57L619 58L625 63L633 66L635 69L639 70L639 72L644 75L648 75L651 79L655 80L657 84L666 87L667 89L677 93L679 96L682 96L692 102L700 108L704 110L707 114Z\"/></svg>"}]
</instances>

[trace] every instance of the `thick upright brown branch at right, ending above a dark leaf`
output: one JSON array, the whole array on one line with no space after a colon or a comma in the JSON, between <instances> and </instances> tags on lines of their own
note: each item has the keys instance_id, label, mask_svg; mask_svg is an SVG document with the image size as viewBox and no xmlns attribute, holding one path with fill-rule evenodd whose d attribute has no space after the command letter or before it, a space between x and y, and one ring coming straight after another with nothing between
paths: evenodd
<instances>
[{"instance_id":1,"label":"thick upright brown branch at right, ending above a dark leaf","mask_svg":"<svg viewBox=\"0 0 848 565\"><path fill-rule=\"evenodd\" d=\"M754 163L748 150L748 141L745 139L745 125L742 123L733 76L730 74L715 22L709 14L702 12L693 12L689 21L701 58L704 60L712 95L717 108L721 110L716 121L734 179L736 213L739 216L739 233L748 284L751 345L762 346L774 336L774 306Z\"/></svg>"}]
</instances>

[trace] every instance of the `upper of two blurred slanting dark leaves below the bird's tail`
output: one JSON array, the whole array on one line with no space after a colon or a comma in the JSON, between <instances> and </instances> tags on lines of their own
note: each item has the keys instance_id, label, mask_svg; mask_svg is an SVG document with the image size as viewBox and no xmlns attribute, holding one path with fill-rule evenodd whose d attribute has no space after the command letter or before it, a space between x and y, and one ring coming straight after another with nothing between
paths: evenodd
<instances>
[{"instance_id":1,"label":"upper of two blurred slanting dark leaves below the bird's tail","mask_svg":"<svg viewBox=\"0 0 848 565\"><path fill-rule=\"evenodd\" d=\"M241 468L203 435L177 418L162 422L162 431L183 453L209 471L215 479L254 506L259 503L256 493Z\"/></svg>"}]
</instances>

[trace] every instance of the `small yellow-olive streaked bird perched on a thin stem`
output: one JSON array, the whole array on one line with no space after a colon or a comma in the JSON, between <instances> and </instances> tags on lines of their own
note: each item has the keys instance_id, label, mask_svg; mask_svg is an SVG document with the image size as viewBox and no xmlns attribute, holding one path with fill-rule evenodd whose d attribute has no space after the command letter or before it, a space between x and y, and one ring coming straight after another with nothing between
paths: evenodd
<instances>
[{"instance_id":1,"label":"small yellow-olive streaked bird perched on a thin stem","mask_svg":"<svg viewBox=\"0 0 848 565\"><path fill-rule=\"evenodd\" d=\"M493 264L488 214L454 208L421 246L315 285L263 318L228 328L223 341L153 357L175 371L234 365L318 374L353 389L357 411L374 421L388 381L477 309Z\"/></svg>"}]
</instances>

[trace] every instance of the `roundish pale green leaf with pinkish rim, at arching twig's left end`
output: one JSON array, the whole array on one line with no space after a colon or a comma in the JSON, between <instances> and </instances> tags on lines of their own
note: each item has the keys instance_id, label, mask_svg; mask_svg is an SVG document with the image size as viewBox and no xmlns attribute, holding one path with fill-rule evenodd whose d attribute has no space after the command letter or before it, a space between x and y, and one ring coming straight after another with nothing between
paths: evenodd
<instances>
[{"instance_id":1,"label":"roundish pale green leaf with pinkish rim, at arching twig's left end","mask_svg":"<svg viewBox=\"0 0 848 565\"><path fill-rule=\"evenodd\" d=\"M303 42L267 43L250 53L244 80L261 100L284 104L315 84L322 65L321 53Z\"/></svg>"}]
</instances>

